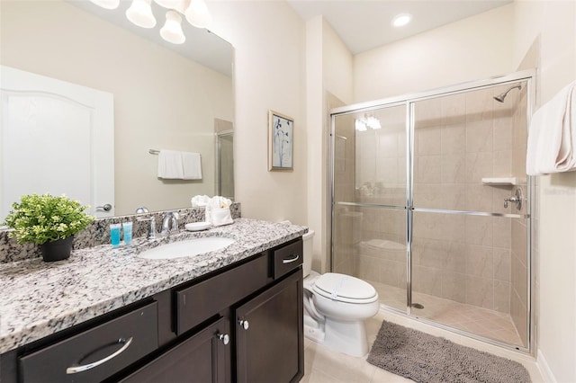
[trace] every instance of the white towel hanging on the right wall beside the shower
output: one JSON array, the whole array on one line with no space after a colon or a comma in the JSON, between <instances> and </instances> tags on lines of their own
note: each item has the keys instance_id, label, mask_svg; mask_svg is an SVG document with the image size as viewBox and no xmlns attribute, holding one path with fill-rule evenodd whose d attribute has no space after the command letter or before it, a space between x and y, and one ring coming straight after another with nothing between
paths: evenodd
<instances>
[{"instance_id":1,"label":"white towel hanging on the right wall beside the shower","mask_svg":"<svg viewBox=\"0 0 576 383\"><path fill-rule=\"evenodd\" d=\"M576 170L576 82L534 113L528 131L528 175Z\"/></svg>"}]
</instances>

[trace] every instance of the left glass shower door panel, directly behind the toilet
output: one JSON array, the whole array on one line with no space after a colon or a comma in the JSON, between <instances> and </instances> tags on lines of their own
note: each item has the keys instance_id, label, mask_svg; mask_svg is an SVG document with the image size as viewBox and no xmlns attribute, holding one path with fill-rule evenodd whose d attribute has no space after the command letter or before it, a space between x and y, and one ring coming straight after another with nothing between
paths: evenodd
<instances>
[{"instance_id":1,"label":"left glass shower door panel, directly behind the toilet","mask_svg":"<svg viewBox=\"0 0 576 383\"><path fill-rule=\"evenodd\" d=\"M406 311L405 103L334 117L333 272L370 282Z\"/></svg>"}]
</instances>

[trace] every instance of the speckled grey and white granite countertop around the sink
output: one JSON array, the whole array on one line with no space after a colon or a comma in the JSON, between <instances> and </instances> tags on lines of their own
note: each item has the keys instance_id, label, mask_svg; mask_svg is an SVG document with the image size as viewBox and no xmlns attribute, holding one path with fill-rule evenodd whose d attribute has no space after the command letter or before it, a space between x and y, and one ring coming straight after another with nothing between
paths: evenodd
<instances>
[{"instance_id":1,"label":"speckled grey and white granite countertop around the sink","mask_svg":"<svg viewBox=\"0 0 576 383\"><path fill-rule=\"evenodd\" d=\"M191 281L230 263L302 236L306 227L237 218L234 224L181 232L130 246L100 245L75 250L69 259L41 258L0 264L0 353ZM198 236L226 236L232 245L208 254L146 260L150 247Z\"/></svg>"}]
</instances>

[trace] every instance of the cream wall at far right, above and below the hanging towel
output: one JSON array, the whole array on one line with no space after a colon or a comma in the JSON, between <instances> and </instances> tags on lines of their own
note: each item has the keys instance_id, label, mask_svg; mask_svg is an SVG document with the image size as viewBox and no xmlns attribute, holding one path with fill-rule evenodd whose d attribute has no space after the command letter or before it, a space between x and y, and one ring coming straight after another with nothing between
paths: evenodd
<instances>
[{"instance_id":1,"label":"cream wall at far right, above and below the hanging towel","mask_svg":"<svg viewBox=\"0 0 576 383\"><path fill-rule=\"evenodd\" d=\"M576 3L518 1L514 11L515 66L539 44L540 106L576 80ZM538 183L538 364L549 381L576 381L576 173Z\"/></svg>"}]
</instances>

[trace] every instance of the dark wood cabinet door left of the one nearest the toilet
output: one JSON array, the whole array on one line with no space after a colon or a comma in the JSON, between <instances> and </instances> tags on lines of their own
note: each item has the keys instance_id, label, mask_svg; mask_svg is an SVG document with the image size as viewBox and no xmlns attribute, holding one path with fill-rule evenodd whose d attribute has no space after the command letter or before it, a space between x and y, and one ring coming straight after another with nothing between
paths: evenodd
<instances>
[{"instance_id":1,"label":"dark wood cabinet door left of the one nearest the toilet","mask_svg":"<svg viewBox=\"0 0 576 383\"><path fill-rule=\"evenodd\" d=\"M229 320L220 318L121 382L230 382L231 339L224 341L224 335L229 336Z\"/></svg>"}]
</instances>

